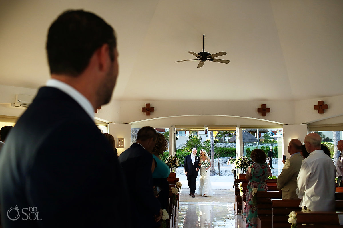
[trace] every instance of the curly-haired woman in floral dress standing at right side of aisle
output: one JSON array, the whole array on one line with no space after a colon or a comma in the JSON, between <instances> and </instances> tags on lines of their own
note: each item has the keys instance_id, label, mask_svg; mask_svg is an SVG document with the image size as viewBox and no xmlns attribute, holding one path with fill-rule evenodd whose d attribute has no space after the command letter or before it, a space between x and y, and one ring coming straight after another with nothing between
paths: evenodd
<instances>
[{"instance_id":1,"label":"curly-haired woman in floral dress standing at right side of aisle","mask_svg":"<svg viewBox=\"0 0 343 228\"><path fill-rule=\"evenodd\" d=\"M265 163L266 155L263 150L253 150L250 158L254 163L249 166L245 176L245 179L249 180L249 183L247 186L247 192L245 193L246 203L243 212L243 219L246 221L247 228L256 228L257 206L256 202L253 202L252 189L257 188L257 191L267 191L267 180L269 176L272 176L272 172L270 171L269 165Z\"/></svg>"}]
</instances>

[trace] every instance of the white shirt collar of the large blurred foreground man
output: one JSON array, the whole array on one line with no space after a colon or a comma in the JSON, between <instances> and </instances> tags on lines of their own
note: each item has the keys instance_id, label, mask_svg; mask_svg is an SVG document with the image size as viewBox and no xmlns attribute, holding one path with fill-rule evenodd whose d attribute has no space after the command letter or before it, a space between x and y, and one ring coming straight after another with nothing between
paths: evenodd
<instances>
[{"instance_id":1,"label":"white shirt collar of the large blurred foreground man","mask_svg":"<svg viewBox=\"0 0 343 228\"><path fill-rule=\"evenodd\" d=\"M49 79L46 82L46 86L57 88L71 96L87 112L87 114L94 119L94 109L91 102L89 102L85 96L83 96L79 91L75 90L72 86L57 79Z\"/></svg>"}]
</instances>

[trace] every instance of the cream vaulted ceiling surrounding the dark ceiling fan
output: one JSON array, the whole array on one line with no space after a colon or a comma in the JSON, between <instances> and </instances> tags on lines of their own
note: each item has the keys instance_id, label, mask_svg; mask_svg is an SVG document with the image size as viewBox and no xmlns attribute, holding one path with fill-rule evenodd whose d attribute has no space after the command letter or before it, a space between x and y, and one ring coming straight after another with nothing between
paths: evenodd
<instances>
[{"instance_id":1,"label":"cream vaulted ceiling surrounding the dark ceiling fan","mask_svg":"<svg viewBox=\"0 0 343 228\"><path fill-rule=\"evenodd\" d=\"M64 10L116 30L114 100L281 100L343 95L341 0L0 0L0 84L37 89L49 78L45 42ZM228 64L193 59L213 54Z\"/></svg>"}]
</instances>

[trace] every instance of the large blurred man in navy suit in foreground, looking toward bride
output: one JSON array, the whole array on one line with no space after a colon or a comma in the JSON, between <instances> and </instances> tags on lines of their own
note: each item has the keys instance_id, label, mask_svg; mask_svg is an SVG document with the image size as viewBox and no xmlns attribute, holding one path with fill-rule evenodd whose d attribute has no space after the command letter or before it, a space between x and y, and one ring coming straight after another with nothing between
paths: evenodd
<instances>
[{"instance_id":1,"label":"large blurred man in navy suit in foreground, looking toward bride","mask_svg":"<svg viewBox=\"0 0 343 228\"><path fill-rule=\"evenodd\" d=\"M131 227L125 179L94 123L110 101L118 54L113 28L66 11L47 37L51 78L11 130L0 156L4 227ZM137 210L137 209L131 209Z\"/></svg>"}]
</instances>

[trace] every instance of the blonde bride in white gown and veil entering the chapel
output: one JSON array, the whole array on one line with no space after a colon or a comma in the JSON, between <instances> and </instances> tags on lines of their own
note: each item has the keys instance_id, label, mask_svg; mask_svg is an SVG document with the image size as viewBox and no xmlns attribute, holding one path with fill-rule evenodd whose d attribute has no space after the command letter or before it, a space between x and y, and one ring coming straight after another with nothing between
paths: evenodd
<instances>
[{"instance_id":1,"label":"blonde bride in white gown and veil entering the chapel","mask_svg":"<svg viewBox=\"0 0 343 228\"><path fill-rule=\"evenodd\" d=\"M210 180L210 171L206 172L211 167L211 161L209 156L207 155L205 150L200 150L200 164L201 165L204 161L208 161L210 166L205 168L204 166L200 166L200 184L199 188L197 189L197 194L207 197L213 196L214 192L212 191L211 180Z\"/></svg>"}]
</instances>

